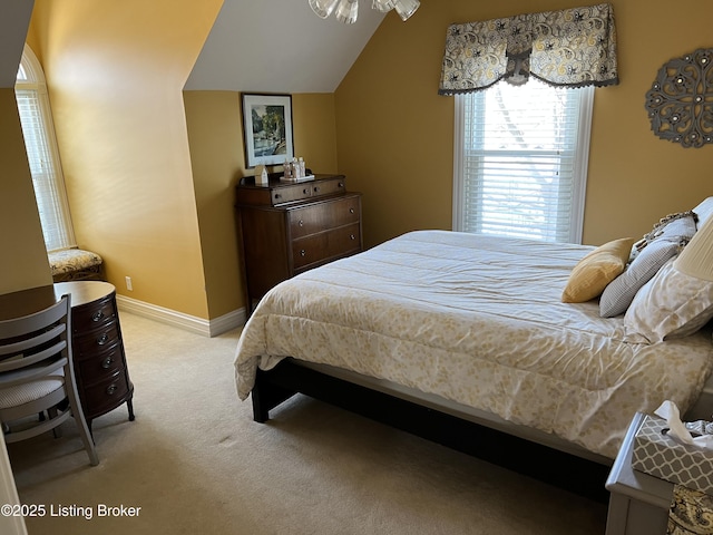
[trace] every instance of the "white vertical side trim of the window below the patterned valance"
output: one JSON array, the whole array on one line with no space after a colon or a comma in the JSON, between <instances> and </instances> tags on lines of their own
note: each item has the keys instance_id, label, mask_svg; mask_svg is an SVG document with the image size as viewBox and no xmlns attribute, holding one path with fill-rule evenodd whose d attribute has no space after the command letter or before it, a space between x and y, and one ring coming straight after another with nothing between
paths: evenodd
<instances>
[{"instance_id":1,"label":"white vertical side trim of the window below the patterned valance","mask_svg":"<svg viewBox=\"0 0 713 535\"><path fill-rule=\"evenodd\" d=\"M500 81L502 84L502 81ZM487 90L487 89L486 89ZM574 181L572 220L569 222L569 242L582 243L584 231L584 208L587 189L587 171L589 166L589 142L592 138L592 116L594 109L595 88L584 87L580 90L577 147L574 163L574 174L578 179ZM453 117L453 198L452 198L452 228L463 232L463 189L465 189L465 104L467 95L455 95L455 117ZM583 149L584 147L584 149Z\"/></svg>"}]
</instances>

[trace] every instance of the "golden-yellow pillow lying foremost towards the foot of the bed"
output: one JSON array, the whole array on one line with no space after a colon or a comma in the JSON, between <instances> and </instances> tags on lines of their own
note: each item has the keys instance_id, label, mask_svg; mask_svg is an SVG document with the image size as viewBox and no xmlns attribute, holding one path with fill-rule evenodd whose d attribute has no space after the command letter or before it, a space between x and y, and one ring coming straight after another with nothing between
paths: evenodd
<instances>
[{"instance_id":1,"label":"golden-yellow pillow lying foremost towards the foot of the bed","mask_svg":"<svg viewBox=\"0 0 713 535\"><path fill-rule=\"evenodd\" d=\"M599 296L606 285L624 271L633 243L633 237L622 237L587 253L572 270L561 301L583 303Z\"/></svg>"}]
</instances>

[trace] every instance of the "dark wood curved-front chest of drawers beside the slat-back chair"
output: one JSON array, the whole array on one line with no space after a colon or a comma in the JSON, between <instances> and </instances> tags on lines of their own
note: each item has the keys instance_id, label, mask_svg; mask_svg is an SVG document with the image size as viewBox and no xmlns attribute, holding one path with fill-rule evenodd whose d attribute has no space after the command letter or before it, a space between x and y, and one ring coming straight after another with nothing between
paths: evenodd
<instances>
[{"instance_id":1,"label":"dark wood curved-front chest of drawers beside the slat-back chair","mask_svg":"<svg viewBox=\"0 0 713 535\"><path fill-rule=\"evenodd\" d=\"M126 402L134 420L134 385L124 351L116 289L108 282L75 281L55 284L55 294L71 294L75 376L79 399L91 420Z\"/></svg>"}]
</instances>

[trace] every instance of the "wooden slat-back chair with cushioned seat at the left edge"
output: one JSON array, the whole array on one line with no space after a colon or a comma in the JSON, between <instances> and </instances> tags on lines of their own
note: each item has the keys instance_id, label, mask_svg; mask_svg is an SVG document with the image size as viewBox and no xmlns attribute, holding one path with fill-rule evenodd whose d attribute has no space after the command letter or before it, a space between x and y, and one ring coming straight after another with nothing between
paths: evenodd
<instances>
[{"instance_id":1,"label":"wooden slat-back chair with cushioned seat at the left edge","mask_svg":"<svg viewBox=\"0 0 713 535\"><path fill-rule=\"evenodd\" d=\"M0 321L0 422L10 444L49 430L57 437L58 426L74 416L96 466L99 458L75 382L70 299L64 295L40 312Z\"/></svg>"}]
</instances>

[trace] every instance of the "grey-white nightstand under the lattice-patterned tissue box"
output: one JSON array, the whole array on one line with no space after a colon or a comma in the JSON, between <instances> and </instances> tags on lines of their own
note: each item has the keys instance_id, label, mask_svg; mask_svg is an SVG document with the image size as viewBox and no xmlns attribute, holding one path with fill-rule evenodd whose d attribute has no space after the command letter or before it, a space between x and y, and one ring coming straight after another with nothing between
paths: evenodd
<instances>
[{"instance_id":1,"label":"grey-white nightstand under the lattice-patterned tissue box","mask_svg":"<svg viewBox=\"0 0 713 535\"><path fill-rule=\"evenodd\" d=\"M634 436L644 421L638 412L628 427L606 488L612 493L606 535L665 535L673 484L632 469Z\"/></svg>"}]
</instances>

